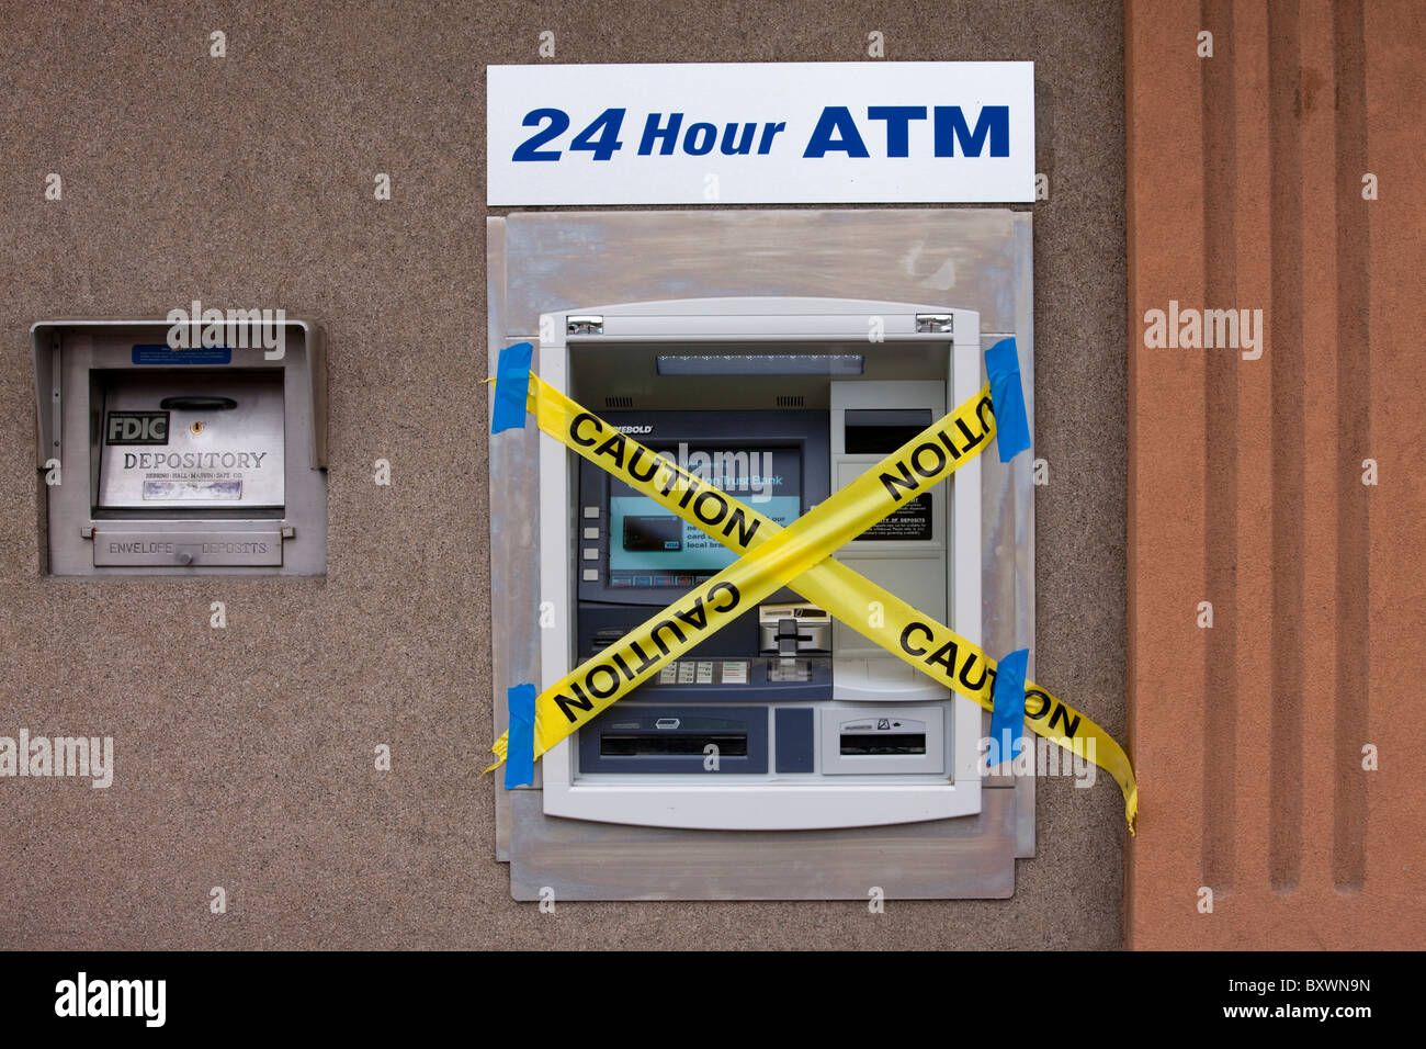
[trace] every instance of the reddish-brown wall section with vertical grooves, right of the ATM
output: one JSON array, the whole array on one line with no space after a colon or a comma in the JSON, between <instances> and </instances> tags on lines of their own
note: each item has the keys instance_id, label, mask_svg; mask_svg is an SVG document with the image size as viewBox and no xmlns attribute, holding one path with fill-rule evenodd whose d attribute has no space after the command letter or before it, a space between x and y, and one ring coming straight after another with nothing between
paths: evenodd
<instances>
[{"instance_id":1,"label":"reddish-brown wall section with vertical grooves, right of the ATM","mask_svg":"<svg viewBox=\"0 0 1426 1049\"><path fill-rule=\"evenodd\" d=\"M1423 53L1409 1L1127 10L1135 948L1426 943ZM1262 357L1149 348L1171 300Z\"/></svg>"}]
</instances>

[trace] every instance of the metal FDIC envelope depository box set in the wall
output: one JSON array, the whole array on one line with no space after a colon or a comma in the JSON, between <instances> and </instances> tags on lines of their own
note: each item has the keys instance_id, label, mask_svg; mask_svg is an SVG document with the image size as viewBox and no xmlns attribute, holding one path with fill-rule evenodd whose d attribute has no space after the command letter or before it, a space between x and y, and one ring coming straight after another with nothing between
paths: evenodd
<instances>
[{"instance_id":1,"label":"metal FDIC envelope depository box set in the wall","mask_svg":"<svg viewBox=\"0 0 1426 1049\"><path fill-rule=\"evenodd\" d=\"M31 330L53 575L322 575L321 325L185 350L167 321Z\"/></svg>"}]
</instances>

